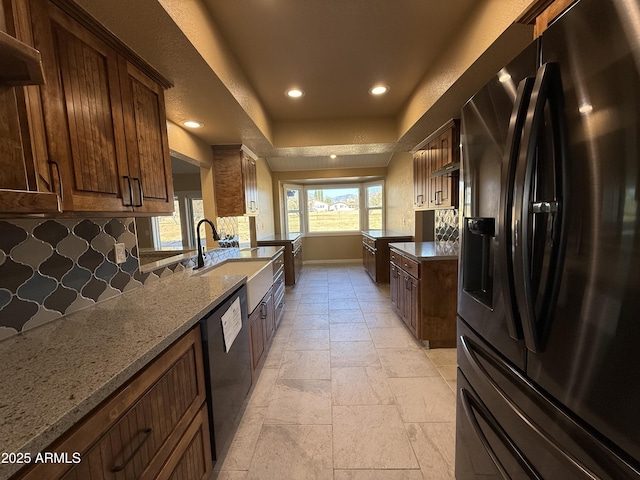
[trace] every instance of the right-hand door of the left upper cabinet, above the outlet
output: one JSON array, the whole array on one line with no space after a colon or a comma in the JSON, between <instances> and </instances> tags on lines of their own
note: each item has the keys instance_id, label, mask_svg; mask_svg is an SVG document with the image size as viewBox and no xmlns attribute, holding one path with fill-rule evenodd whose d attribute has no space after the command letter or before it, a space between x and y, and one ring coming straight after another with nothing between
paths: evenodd
<instances>
[{"instance_id":1,"label":"right-hand door of the left upper cabinet, above the outlet","mask_svg":"<svg viewBox=\"0 0 640 480\"><path fill-rule=\"evenodd\" d=\"M134 209L173 212L164 89L122 57L119 71Z\"/></svg>"}]
</instances>

